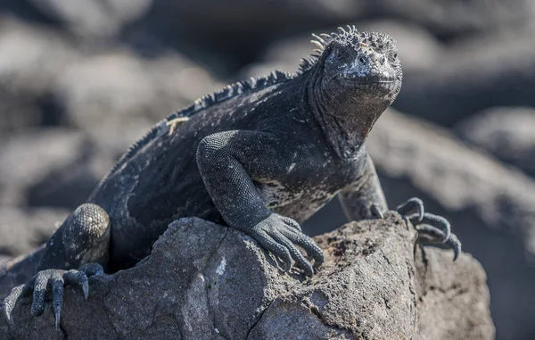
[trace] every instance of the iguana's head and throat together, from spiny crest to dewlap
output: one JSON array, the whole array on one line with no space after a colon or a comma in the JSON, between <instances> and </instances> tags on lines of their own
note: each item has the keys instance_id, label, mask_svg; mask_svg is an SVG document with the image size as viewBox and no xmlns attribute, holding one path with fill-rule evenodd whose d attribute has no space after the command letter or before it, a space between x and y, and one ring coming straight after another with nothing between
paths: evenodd
<instances>
[{"instance_id":1,"label":"iguana's head and throat together, from spiny crest to dewlap","mask_svg":"<svg viewBox=\"0 0 535 340\"><path fill-rule=\"evenodd\" d=\"M310 105L335 152L348 157L399 94L398 48L384 33L355 27L313 37L316 54L300 66L309 75Z\"/></svg>"}]
</instances>

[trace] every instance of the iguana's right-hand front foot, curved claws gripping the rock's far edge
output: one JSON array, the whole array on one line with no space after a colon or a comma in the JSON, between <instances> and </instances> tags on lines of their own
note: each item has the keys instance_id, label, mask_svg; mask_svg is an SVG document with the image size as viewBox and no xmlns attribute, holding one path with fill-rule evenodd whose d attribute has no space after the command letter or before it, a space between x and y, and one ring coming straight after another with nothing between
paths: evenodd
<instances>
[{"instance_id":1,"label":"iguana's right-hand front foot, curved claws gripping the rock's far edge","mask_svg":"<svg viewBox=\"0 0 535 340\"><path fill-rule=\"evenodd\" d=\"M461 253L461 243L457 236L451 233L451 226L448 220L441 216L424 212L424 203L416 197L400 204L396 211L410 220L418 231L418 236L424 242L449 246L449 248L453 249L453 261L457 260L459 253Z\"/></svg>"}]
</instances>

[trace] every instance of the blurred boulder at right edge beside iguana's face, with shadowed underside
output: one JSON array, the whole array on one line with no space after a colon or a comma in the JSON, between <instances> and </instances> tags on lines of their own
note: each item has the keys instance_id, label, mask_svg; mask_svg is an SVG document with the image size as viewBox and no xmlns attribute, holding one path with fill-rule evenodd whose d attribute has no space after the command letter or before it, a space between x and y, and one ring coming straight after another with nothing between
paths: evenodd
<instances>
[{"instance_id":1,"label":"blurred boulder at right edge beside iguana's face, with shadowed underside","mask_svg":"<svg viewBox=\"0 0 535 340\"><path fill-rule=\"evenodd\" d=\"M459 39L432 69L403 79L393 106L449 127L494 106L535 106L533 27Z\"/></svg>"}]
</instances>

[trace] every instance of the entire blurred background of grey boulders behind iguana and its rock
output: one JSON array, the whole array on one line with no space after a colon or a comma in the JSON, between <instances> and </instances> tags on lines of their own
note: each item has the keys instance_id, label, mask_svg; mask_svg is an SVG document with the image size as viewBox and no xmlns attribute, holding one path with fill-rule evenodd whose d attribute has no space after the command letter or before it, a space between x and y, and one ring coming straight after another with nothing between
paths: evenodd
<instances>
[{"instance_id":1,"label":"entire blurred background of grey boulders behind iguana and its rock","mask_svg":"<svg viewBox=\"0 0 535 340\"><path fill-rule=\"evenodd\" d=\"M497 338L535 339L534 19L533 0L0 0L0 261L153 122L355 24L395 37L405 70L369 143L390 204L447 217L487 271ZM305 227L344 221L334 200Z\"/></svg>"}]
</instances>

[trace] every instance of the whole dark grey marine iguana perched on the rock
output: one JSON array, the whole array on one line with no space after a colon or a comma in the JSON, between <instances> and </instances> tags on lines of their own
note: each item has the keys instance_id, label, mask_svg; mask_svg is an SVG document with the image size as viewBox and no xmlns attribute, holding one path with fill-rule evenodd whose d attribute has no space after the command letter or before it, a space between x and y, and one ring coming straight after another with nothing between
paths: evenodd
<instances>
[{"instance_id":1,"label":"whole dark grey marine iguana perched on the rock","mask_svg":"<svg viewBox=\"0 0 535 340\"><path fill-rule=\"evenodd\" d=\"M395 42L354 27L315 37L317 54L296 74L205 96L133 145L44 247L8 266L9 282L37 274L6 297L7 319L32 291L31 312L43 313L48 285L57 327L65 283L87 296L88 276L132 267L181 217L242 230L306 275L314 269L296 245L316 264L324 257L300 223L334 195L351 220L382 218L388 206L364 142L401 87ZM398 211L457 257L447 220L424 213L416 198Z\"/></svg>"}]
</instances>

